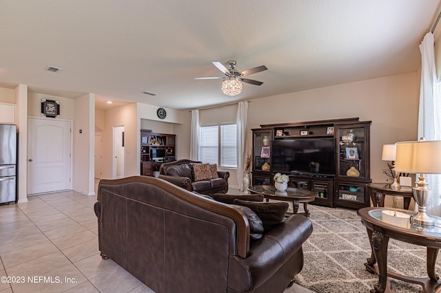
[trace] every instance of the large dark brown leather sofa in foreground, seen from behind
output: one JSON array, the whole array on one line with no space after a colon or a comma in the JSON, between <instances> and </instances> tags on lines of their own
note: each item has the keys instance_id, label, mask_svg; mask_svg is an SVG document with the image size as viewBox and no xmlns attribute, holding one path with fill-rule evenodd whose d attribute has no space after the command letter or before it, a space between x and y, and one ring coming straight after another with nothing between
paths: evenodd
<instances>
[{"instance_id":1,"label":"large dark brown leather sofa in foreground, seen from behind","mask_svg":"<svg viewBox=\"0 0 441 293\"><path fill-rule=\"evenodd\" d=\"M312 232L291 215L250 241L240 208L154 177L101 180L99 250L154 292L283 292Z\"/></svg>"}]
</instances>

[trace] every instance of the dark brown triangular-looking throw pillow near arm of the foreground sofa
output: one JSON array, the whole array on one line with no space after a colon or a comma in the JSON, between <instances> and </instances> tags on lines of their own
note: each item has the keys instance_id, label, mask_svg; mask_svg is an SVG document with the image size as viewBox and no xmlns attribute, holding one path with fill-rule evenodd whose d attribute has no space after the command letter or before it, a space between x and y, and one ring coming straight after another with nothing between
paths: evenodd
<instances>
[{"instance_id":1,"label":"dark brown triangular-looking throw pillow near arm of the foreground sofa","mask_svg":"<svg viewBox=\"0 0 441 293\"><path fill-rule=\"evenodd\" d=\"M239 199L234 199L233 203L251 208L262 220L265 232L283 223L289 206L287 202L246 202Z\"/></svg>"}]
</instances>

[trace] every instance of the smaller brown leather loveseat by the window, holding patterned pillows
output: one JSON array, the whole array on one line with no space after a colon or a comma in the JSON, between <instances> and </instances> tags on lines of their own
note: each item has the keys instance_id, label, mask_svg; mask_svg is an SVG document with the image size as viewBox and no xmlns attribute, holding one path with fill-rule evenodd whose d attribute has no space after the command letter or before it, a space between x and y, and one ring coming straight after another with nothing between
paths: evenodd
<instances>
[{"instance_id":1,"label":"smaller brown leather loveseat by the window, holding patterned pillows","mask_svg":"<svg viewBox=\"0 0 441 293\"><path fill-rule=\"evenodd\" d=\"M177 160L161 164L159 178L172 182L173 184L205 195L214 193L227 193L229 172L217 171L218 178L194 181L193 165L202 162L192 160Z\"/></svg>"}]
</instances>

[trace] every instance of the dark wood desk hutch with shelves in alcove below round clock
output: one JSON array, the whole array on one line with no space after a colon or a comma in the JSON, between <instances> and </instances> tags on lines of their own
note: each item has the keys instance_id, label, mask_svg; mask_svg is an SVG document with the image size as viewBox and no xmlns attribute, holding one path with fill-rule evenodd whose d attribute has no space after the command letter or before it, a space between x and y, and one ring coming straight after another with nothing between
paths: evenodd
<instances>
[{"instance_id":1,"label":"dark wood desk hutch with shelves in alcove below round clock","mask_svg":"<svg viewBox=\"0 0 441 293\"><path fill-rule=\"evenodd\" d=\"M160 154L161 159L153 158ZM152 133L141 129L141 171L144 176L153 176L164 162L176 160L176 135Z\"/></svg>"}]
</instances>

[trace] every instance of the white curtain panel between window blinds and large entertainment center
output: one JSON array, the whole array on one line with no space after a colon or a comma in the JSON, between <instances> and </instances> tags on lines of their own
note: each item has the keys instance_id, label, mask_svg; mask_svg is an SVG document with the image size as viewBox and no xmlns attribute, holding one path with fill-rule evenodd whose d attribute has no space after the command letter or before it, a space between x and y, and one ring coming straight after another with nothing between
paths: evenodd
<instances>
[{"instance_id":1,"label":"white curtain panel between window blinds and large entertainment center","mask_svg":"<svg viewBox=\"0 0 441 293\"><path fill-rule=\"evenodd\" d=\"M247 120L248 102L239 102L237 109L237 182L239 191L243 188L243 172L245 171L245 160L247 160Z\"/></svg>"}]
</instances>

